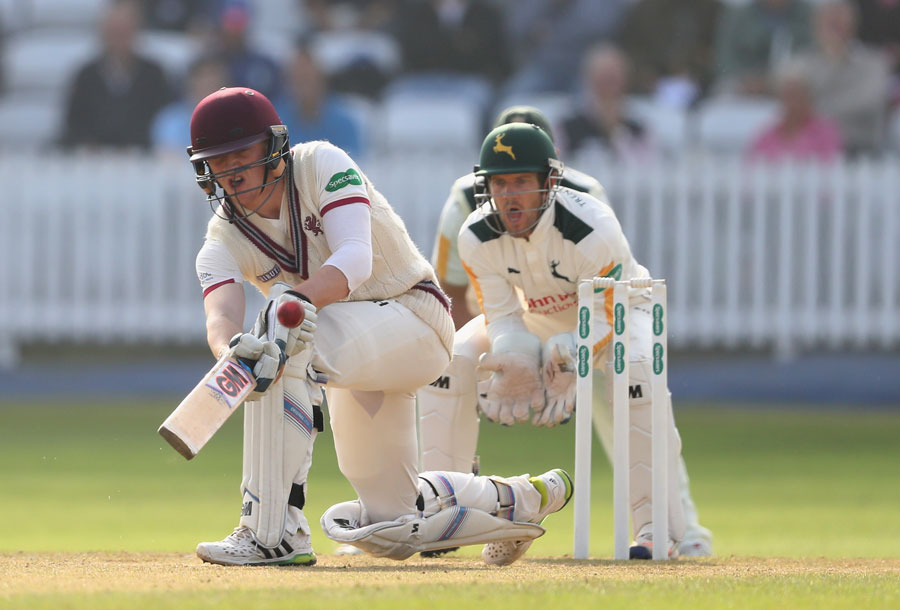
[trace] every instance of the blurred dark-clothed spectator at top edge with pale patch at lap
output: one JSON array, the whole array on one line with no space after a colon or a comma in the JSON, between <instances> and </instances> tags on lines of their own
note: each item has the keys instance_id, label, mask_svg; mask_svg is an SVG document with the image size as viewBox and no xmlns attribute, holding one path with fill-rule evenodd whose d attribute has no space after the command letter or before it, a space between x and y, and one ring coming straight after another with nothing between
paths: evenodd
<instances>
[{"instance_id":1,"label":"blurred dark-clothed spectator at top edge with pale patch at lap","mask_svg":"<svg viewBox=\"0 0 900 610\"><path fill-rule=\"evenodd\" d=\"M642 0L631 6L620 42L631 62L631 90L688 106L713 78L719 0Z\"/></svg>"}]
</instances>

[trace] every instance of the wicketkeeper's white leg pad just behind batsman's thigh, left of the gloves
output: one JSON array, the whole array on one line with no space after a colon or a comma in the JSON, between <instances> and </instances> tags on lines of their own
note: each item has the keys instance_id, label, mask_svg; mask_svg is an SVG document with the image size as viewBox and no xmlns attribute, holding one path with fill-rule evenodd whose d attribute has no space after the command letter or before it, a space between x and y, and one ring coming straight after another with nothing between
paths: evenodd
<instances>
[{"instance_id":1,"label":"wicketkeeper's white leg pad just behind batsman's thigh, left of the gloves","mask_svg":"<svg viewBox=\"0 0 900 610\"><path fill-rule=\"evenodd\" d=\"M479 423L475 361L454 355L444 374L416 397L422 470L472 472Z\"/></svg>"}]
</instances>

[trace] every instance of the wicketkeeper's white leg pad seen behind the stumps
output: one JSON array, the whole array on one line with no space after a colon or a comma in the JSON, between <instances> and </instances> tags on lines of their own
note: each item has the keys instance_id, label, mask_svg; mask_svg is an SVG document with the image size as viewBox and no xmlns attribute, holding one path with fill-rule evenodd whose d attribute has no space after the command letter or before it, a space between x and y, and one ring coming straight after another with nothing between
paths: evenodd
<instances>
[{"instance_id":1,"label":"wicketkeeper's white leg pad seen behind the stumps","mask_svg":"<svg viewBox=\"0 0 900 610\"><path fill-rule=\"evenodd\" d=\"M631 519L635 537L645 528L649 528L652 519L652 447L651 430L652 414L650 404L650 363L647 360L631 362L630 420L630 491ZM678 542L684 537L684 513L681 505L680 477L678 476L679 458L681 457L681 438L675 428L672 414L671 396L667 401L669 412L669 537Z\"/></svg>"}]
</instances>

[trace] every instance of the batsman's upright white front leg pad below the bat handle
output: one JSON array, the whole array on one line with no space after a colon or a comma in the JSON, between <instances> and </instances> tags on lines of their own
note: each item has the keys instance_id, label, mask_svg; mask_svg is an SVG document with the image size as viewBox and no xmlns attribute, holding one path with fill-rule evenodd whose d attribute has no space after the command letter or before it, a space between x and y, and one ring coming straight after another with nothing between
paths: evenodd
<instances>
[{"instance_id":1,"label":"batsman's upright white front leg pad below the bat handle","mask_svg":"<svg viewBox=\"0 0 900 610\"><path fill-rule=\"evenodd\" d=\"M310 531L298 502L317 434L305 370L302 377L286 370L260 400L244 403L240 523L266 547L278 545L285 530Z\"/></svg>"}]
</instances>

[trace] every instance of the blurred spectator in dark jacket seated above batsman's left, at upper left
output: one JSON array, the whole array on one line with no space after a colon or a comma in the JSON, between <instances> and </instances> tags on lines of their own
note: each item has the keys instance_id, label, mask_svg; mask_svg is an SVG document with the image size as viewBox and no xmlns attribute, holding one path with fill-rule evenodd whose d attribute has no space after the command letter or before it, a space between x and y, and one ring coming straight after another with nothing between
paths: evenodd
<instances>
[{"instance_id":1,"label":"blurred spectator in dark jacket seated above batsman's left, at upper left","mask_svg":"<svg viewBox=\"0 0 900 610\"><path fill-rule=\"evenodd\" d=\"M113 0L100 24L102 49L75 76L66 101L64 146L150 146L150 123L172 99L163 69L137 54L136 0Z\"/></svg>"}]
</instances>

